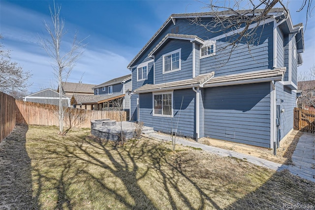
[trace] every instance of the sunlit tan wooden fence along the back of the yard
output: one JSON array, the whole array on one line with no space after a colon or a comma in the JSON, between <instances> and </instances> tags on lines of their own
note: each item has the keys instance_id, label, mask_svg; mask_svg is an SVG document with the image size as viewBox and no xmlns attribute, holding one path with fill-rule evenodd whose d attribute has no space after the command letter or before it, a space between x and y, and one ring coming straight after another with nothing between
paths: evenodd
<instances>
[{"instance_id":1,"label":"sunlit tan wooden fence along the back of the yard","mask_svg":"<svg viewBox=\"0 0 315 210\"><path fill-rule=\"evenodd\" d=\"M59 126L59 106L33 102L16 101L16 124ZM91 120L106 119L120 121L120 111L96 111L79 108L67 108L63 125L74 128L90 128ZM122 111L122 120L126 121L126 111Z\"/></svg>"}]
</instances>

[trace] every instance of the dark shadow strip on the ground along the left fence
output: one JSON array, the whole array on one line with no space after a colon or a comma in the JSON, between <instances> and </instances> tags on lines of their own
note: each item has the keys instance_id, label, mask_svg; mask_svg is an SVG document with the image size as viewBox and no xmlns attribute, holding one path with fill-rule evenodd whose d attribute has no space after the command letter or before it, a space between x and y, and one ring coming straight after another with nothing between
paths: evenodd
<instances>
[{"instance_id":1,"label":"dark shadow strip on the ground along the left fence","mask_svg":"<svg viewBox=\"0 0 315 210\"><path fill-rule=\"evenodd\" d=\"M16 126L0 145L0 209L37 209L26 150L28 129L26 125Z\"/></svg>"}]
</instances>

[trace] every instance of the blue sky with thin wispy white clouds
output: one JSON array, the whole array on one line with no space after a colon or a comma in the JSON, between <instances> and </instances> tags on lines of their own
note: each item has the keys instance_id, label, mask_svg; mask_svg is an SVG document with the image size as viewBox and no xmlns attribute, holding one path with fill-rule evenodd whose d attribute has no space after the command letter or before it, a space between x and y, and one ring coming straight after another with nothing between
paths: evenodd
<instances>
[{"instance_id":1,"label":"blue sky with thin wispy white clouds","mask_svg":"<svg viewBox=\"0 0 315 210\"><path fill-rule=\"evenodd\" d=\"M207 2L207 1L204 1ZM207 11L201 1L195 0L59 0L61 16L68 30L64 42L69 42L77 31L86 39L83 57L73 69L69 82L100 84L130 73L128 63L156 33L172 13ZM305 24L306 13L295 12L301 0L288 4L292 22ZM51 59L38 44L37 38L47 35L44 21L50 23L48 5L51 0L1 0L0 34L5 48L11 50L11 59L33 74L29 92L57 87ZM309 70L315 64L315 17L309 19L304 35L304 64L299 71Z\"/></svg>"}]
</instances>

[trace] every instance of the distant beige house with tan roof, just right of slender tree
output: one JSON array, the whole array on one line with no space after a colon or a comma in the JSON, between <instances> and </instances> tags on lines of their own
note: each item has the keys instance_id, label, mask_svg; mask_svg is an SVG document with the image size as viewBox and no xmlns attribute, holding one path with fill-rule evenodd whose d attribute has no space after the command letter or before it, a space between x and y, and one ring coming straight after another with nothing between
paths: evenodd
<instances>
[{"instance_id":1,"label":"distant beige house with tan roof, just right of slender tree","mask_svg":"<svg viewBox=\"0 0 315 210\"><path fill-rule=\"evenodd\" d=\"M94 84L84 84L84 83L75 83L75 82L62 82L63 86L63 94L72 98L73 94L81 94L81 95L94 95L93 87ZM59 92L59 87L57 89Z\"/></svg>"}]
</instances>

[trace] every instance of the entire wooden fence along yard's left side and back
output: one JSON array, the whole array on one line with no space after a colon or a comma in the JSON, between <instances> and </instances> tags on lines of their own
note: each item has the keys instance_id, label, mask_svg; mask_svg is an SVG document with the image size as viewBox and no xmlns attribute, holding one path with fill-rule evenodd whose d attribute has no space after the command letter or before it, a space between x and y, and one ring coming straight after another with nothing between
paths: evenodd
<instances>
[{"instance_id":1,"label":"entire wooden fence along yard's left side and back","mask_svg":"<svg viewBox=\"0 0 315 210\"><path fill-rule=\"evenodd\" d=\"M16 124L59 126L59 106L23 102L0 92L0 142ZM66 108L63 125L73 128L90 128L91 120L106 119L126 121L126 111L96 111Z\"/></svg>"}]
</instances>

